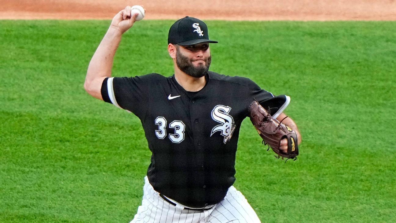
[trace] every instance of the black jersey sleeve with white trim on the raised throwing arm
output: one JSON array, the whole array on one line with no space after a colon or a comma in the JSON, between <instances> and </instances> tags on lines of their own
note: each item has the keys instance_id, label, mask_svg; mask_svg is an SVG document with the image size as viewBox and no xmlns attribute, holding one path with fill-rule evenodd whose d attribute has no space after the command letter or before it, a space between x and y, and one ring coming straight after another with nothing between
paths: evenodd
<instances>
[{"instance_id":1,"label":"black jersey sleeve with white trim on the raised throwing arm","mask_svg":"<svg viewBox=\"0 0 396 223\"><path fill-rule=\"evenodd\" d=\"M147 109L148 89L150 75L110 77L103 81L101 94L105 102L141 117Z\"/></svg>"}]
</instances>

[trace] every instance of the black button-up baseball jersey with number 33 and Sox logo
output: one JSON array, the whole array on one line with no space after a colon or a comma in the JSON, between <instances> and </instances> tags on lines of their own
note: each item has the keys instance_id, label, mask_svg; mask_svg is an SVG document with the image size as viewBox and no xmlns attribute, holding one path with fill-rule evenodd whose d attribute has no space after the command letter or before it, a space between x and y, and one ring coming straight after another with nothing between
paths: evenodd
<instances>
[{"instance_id":1,"label":"black button-up baseball jersey with number 33 and Sox logo","mask_svg":"<svg viewBox=\"0 0 396 223\"><path fill-rule=\"evenodd\" d=\"M187 92L174 75L152 73L103 81L105 102L141 120L152 152L147 176L154 189L185 206L217 204L235 181L242 120L257 100L277 116L289 97L274 97L250 79L206 74L206 85Z\"/></svg>"}]
</instances>

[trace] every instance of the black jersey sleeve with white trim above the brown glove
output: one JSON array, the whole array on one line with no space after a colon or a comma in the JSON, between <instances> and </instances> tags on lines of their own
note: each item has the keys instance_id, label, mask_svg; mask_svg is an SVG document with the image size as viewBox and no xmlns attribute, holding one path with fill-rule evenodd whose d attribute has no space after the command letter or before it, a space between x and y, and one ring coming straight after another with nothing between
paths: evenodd
<instances>
[{"instance_id":1,"label":"black jersey sleeve with white trim above the brown glove","mask_svg":"<svg viewBox=\"0 0 396 223\"><path fill-rule=\"evenodd\" d=\"M256 83L249 80L248 84L250 99L257 100L263 108L270 112L271 116L276 119L280 113L289 105L290 97L284 94L274 96L272 93L261 89Z\"/></svg>"}]
</instances>

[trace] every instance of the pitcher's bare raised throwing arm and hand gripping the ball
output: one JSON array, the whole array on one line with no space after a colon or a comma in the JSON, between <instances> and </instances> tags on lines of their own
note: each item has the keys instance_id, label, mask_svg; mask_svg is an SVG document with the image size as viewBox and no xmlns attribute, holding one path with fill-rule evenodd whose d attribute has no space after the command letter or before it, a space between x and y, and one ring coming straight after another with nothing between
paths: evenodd
<instances>
[{"instance_id":1,"label":"pitcher's bare raised throwing arm and hand gripping the ball","mask_svg":"<svg viewBox=\"0 0 396 223\"><path fill-rule=\"evenodd\" d=\"M121 36L132 27L137 15L135 13L131 16L131 6L127 6L112 19L105 37L103 37L88 65L84 89L91 96L103 100L101 94L103 80L111 77L113 59L118 44L120 44Z\"/></svg>"}]
</instances>

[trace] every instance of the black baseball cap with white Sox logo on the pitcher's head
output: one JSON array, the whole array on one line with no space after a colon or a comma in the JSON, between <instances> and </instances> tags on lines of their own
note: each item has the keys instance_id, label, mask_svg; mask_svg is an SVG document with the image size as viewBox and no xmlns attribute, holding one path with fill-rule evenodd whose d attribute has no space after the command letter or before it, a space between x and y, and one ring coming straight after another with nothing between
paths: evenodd
<instances>
[{"instance_id":1,"label":"black baseball cap with white Sox logo on the pitcher's head","mask_svg":"<svg viewBox=\"0 0 396 223\"><path fill-rule=\"evenodd\" d=\"M217 43L209 39L208 27L199 19L186 16L173 23L169 29L168 44L188 46L201 42Z\"/></svg>"}]
</instances>

